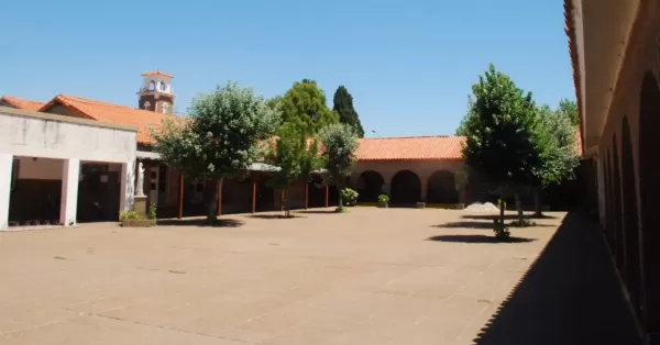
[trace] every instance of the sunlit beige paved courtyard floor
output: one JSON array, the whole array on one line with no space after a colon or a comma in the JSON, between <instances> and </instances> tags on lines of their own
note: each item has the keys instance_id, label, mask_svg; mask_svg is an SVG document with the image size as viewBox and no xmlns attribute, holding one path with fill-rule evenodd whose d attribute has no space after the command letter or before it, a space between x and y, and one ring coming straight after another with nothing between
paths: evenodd
<instances>
[{"instance_id":1,"label":"sunlit beige paved courtyard floor","mask_svg":"<svg viewBox=\"0 0 660 345\"><path fill-rule=\"evenodd\" d=\"M563 213L358 208L0 234L0 344L472 344Z\"/></svg>"}]
</instances>

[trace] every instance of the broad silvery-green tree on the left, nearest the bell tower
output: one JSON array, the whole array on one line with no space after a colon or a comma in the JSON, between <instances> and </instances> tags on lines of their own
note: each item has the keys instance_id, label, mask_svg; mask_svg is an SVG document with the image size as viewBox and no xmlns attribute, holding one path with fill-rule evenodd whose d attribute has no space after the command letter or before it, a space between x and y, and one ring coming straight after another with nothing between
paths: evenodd
<instances>
[{"instance_id":1,"label":"broad silvery-green tree on the left, nearest the bell tower","mask_svg":"<svg viewBox=\"0 0 660 345\"><path fill-rule=\"evenodd\" d=\"M263 157L258 143L273 134L280 114L251 88L231 81L197 96L188 113L185 120L166 120L162 130L153 133L154 149L188 178L218 179L208 213L209 220L215 220L223 179L245 172Z\"/></svg>"}]
</instances>

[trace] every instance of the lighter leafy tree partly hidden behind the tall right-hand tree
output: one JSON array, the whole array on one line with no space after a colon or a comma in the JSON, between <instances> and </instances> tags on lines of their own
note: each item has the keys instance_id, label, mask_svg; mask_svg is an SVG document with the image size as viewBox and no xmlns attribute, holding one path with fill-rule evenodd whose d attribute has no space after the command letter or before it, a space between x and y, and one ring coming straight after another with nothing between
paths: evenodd
<instances>
[{"instance_id":1,"label":"lighter leafy tree partly hidden behind the tall right-hand tree","mask_svg":"<svg viewBox=\"0 0 660 345\"><path fill-rule=\"evenodd\" d=\"M562 110L557 111L543 104L538 109L536 143L539 151L538 166L535 168L536 216L541 216L541 190L552 183L574 178L574 169L580 164L575 153L576 124Z\"/></svg>"}]
</instances>

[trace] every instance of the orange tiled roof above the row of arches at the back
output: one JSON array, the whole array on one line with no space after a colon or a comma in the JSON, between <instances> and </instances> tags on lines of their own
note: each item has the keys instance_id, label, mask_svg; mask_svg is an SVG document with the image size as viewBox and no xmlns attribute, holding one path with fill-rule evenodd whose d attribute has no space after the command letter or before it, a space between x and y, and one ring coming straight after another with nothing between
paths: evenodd
<instances>
[{"instance_id":1,"label":"orange tiled roof above the row of arches at the back","mask_svg":"<svg viewBox=\"0 0 660 345\"><path fill-rule=\"evenodd\" d=\"M462 136L361 138L358 160L462 159Z\"/></svg>"}]
</instances>

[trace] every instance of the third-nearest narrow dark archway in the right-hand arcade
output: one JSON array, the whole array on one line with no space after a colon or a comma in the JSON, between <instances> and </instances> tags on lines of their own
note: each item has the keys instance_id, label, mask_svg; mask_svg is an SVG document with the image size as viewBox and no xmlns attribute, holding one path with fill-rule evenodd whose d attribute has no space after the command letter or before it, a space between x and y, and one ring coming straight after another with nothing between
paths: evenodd
<instances>
[{"instance_id":1,"label":"third-nearest narrow dark archway in the right-hand arcade","mask_svg":"<svg viewBox=\"0 0 660 345\"><path fill-rule=\"evenodd\" d=\"M616 266L618 267L622 276L626 276L626 270L624 269L626 265L626 236L624 235L624 226L623 226L623 207L622 207L622 178L619 172L619 160L618 160L618 143L616 141L616 134L612 136L612 185L614 188L614 211L612 212L614 215L614 252L616 256Z\"/></svg>"}]
</instances>

